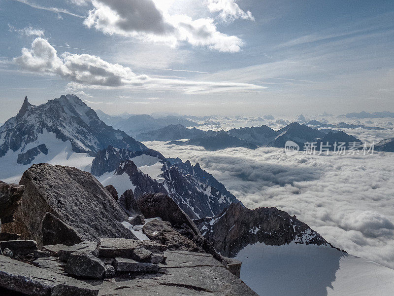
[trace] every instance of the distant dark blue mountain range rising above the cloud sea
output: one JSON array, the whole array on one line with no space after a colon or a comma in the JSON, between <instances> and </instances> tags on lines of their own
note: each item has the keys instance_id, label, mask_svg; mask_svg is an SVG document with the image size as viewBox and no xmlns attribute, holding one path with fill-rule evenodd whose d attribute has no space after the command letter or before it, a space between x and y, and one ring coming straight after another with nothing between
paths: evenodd
<instances>
[{"instance_id":1,"label":"distant dark blue mountain range rising above the cloud sea","mask_svg":"<svg viewBox=\"0 0 394 296\"><path fill-rule=\"evenodd\" d=\"M225 131L201 131L197 128L188 129L181 125L166 126L157 131L140 134L135 137L140 141L170 141L167 144L202 146L206 150L219 150L225 148L244 147L255 149L257 147L284 148L287 141L295 142L300 149L306 142L333 146L335 142L344 142L346 147L350 142L361 140L345 132L325 129L324 131L311 128L305 124L293 122L284 128L275 131L266 125L257 127L244 127ZM179 141L180 139L189 139Z\"/></svg>"}]
</instances>

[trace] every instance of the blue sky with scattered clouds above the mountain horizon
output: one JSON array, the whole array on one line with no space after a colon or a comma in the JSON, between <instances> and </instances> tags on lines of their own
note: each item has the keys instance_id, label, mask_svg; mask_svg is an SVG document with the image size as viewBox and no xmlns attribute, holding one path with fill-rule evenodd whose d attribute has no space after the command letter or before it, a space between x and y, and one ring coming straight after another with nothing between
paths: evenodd
<instances>
[{"instance_id":1,"label":"blue sky with scattered clouds above the mountain horizon","mask_svg":"<svg viewBox=\"0 0 394 296\"><path fill-rule=\"evenodd\" d=\"M28 96L109 114L394 111L393 1L0 0L0 122Z\"/></svg>"}]
</instances>

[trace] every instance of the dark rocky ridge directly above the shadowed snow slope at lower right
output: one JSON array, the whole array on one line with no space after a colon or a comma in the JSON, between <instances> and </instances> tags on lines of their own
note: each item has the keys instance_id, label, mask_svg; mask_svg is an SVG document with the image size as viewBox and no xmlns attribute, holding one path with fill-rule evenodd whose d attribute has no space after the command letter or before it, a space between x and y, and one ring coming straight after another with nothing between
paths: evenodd
<instances>
[{"instance_id":1,"label":"dark rocky ridge directly above the shadowed snow slope at lower right","mask_svg":"<svg viewBox=\"0 0 394 296\"><path fill-rule=\"evenodd\" d=\"M249 210L231 204L215 217L194 222L213 247L227 257L235 257L248 244L257 242L277 246L291 242L329 245L307 224L276 208Z\"/></svg>"}]
</instances>

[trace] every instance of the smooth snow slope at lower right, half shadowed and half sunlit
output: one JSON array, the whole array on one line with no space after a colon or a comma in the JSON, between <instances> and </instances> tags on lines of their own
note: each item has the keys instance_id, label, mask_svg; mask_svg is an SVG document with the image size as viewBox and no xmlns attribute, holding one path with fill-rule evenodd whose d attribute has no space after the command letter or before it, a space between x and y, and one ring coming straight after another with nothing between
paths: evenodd
<instances>
[{"instance_id":1,"label":"smooth snow slope at lower right, half shadowed and half sunlit","mask_svg":"<svg viewBox=\"0 0 394 296\"><path fill-rule=\"evenodd\" d=\"M241 279L262 296L394 295L393 269L330 247L255 243L236 259Z\"/></svg>"}]
</instances>

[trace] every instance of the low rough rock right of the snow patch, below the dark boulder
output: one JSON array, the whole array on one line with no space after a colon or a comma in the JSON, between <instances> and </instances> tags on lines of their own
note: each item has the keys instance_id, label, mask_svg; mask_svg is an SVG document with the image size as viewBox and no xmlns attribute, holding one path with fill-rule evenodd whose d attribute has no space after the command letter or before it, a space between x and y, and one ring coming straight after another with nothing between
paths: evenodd
<instances>
[{"instance_id":1,"label":"low rough rock right of the snow patch, below the dark boulder","mask_svg":"<svg viewBox=\"0 0 394 296\"><path fill-rule=\"evenodd\" d=\"M173 229L169 222L152 220L142 229L149 239L168 246L169 250L202 251L192 240Z\"/></svg>"}]
</instances>

